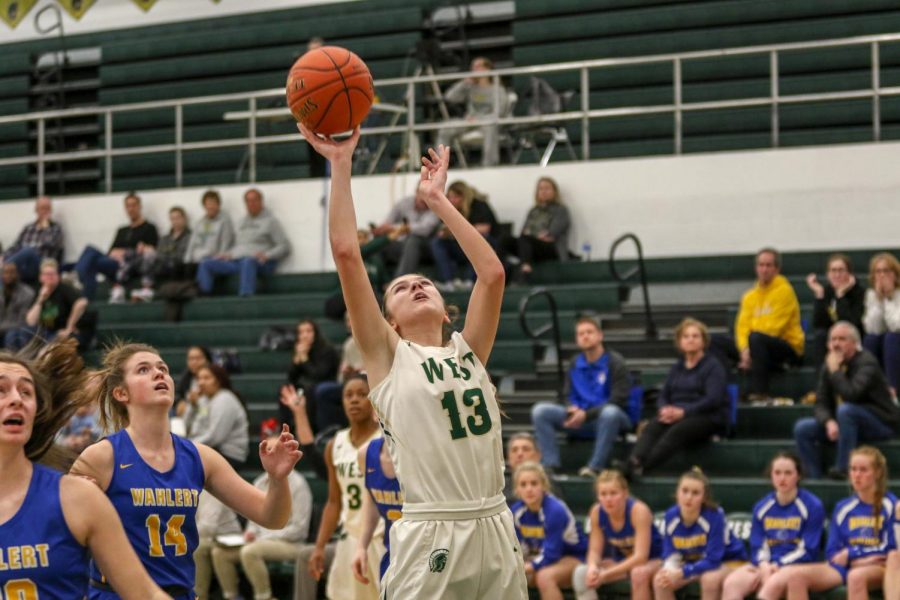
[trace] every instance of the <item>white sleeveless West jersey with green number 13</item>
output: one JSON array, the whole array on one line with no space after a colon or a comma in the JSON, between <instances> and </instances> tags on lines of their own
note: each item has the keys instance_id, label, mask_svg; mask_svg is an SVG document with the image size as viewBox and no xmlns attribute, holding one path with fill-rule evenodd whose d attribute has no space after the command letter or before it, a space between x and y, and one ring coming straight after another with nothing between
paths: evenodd
<instances>
[{"instance_id":1,"label":"white sleeveless West jersey with green number 13","mask_svg":"<svg viewBox=\"0 0 900 600\"><path fill-rule=\"evenodd\" d=\"M471 503L502 493L500 409L484 365L461 334L443 348L400 340L390 373L369 398L407 505Z\"/></svg>"}]
</instances>

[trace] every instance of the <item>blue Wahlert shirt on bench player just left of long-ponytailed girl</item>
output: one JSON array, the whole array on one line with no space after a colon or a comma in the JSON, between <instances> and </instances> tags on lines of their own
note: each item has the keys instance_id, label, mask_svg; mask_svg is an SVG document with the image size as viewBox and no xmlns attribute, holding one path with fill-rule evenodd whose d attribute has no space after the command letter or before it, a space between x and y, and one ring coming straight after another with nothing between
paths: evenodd
<instances>
[{"instance_id":1,"label":"blue Wahlert shirt on bench player just left of long-ponytailed girl","mask_svg":"<svg viewBox=\"0 0 900 600\"><path fill-rule=\"evenodd\" d=\"M770 492L753 507L750 559L753 564L780 566L813 562L818 558L825 526L825 509L814 494L799 489L788 504Z\"/></svg>"}]
</instances>

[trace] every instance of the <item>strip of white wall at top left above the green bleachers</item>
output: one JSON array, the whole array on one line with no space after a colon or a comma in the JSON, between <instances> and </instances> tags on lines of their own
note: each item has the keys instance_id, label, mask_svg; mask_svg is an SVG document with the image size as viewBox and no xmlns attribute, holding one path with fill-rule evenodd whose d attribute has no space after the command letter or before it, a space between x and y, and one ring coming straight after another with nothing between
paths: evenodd
<instances>
[{"instance_id":1,"label":"strip of white wall at top left above the green bleachers","mask_svg":"<svg viewBox=\"0 0 900 600\"><path fill-rule=\"evenodd\" d=\"M158 0L149 11L144 12L131 0L97 0L78 21L62 7L60 7L60 12L66 35L77 35L110 29L143 27L193 19L211 19L260 12L261 10L279 10L347 1L352 0L218 0L218 2L211 0ZM0 21L0 45L45 37L35 29L34 15L48 4L56 5L56 0L38 0L34 8L28 12L15 29L11 30ZM41 18L41 22L46 27L55 21L52 15L47 14Z\"/></svg>"}]
</instances>

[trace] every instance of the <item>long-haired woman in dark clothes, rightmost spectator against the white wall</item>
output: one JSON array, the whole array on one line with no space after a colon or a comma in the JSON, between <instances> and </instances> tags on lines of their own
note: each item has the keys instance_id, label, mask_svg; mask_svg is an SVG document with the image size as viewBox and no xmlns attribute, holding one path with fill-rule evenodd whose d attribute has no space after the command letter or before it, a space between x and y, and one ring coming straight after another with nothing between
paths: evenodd
<instances>
[{"instance_id":1,"label":"long-haired woman in dark clothes, rightmost spectator against the white wall","mask_svg":"<svg viewBox=\"0 0 900 600\"><path fill-rule=\"evenodd\" d=\"M559 186L553 178L541 177L518 241L520 283L528 283L535 262L569 259L570 226L569 209L559 197Z\"/></svg>"}]
</instances>

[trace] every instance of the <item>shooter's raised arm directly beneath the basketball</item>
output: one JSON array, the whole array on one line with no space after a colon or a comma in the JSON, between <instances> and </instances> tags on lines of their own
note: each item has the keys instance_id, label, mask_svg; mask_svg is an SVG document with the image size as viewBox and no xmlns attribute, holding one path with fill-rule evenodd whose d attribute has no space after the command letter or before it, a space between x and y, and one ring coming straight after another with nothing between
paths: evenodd
<instances>
[{"instance_id":1,"label":"shooter's raised arm directly beneath the basketball","mask_svg":"<svg viewBox=\"0 0 900 600\"><path fill-rule=\"evenodd\" d=\"M399 341L381 315L378 301L369 283L356 236L356 211L350 190L353 150L359 141L359 128L348 140L336 142L316 135L298 125L306 141L331 163L331 199L328 205L328 237L331 255L341 280L341 290L353 337L359 344L369 383L375 386L384 379L394 361L394 347Z\"/></svg>"}]
</instances>

